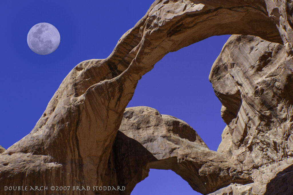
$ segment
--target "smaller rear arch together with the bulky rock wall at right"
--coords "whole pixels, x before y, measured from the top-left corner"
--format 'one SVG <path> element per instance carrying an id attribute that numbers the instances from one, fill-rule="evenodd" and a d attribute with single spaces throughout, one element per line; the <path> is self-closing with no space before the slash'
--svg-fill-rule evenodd
<path id="1" fill-rule="evenodd" d="M 275 176 L 293 164 L 293 71 L 285 56 L 283 45 L 258 37 L 228 39 L 209 76 L 227 124 L 217 152 L 179 119 L 126 108 L 113 146 L 118 181 L 130 192 L 150 168 L 171 169 L 202 194 L 228 183 L 234 184 L 212 194 L 271 193 Z M 289 177 L 282 176 L 281 186 L 291 185 Z"/>

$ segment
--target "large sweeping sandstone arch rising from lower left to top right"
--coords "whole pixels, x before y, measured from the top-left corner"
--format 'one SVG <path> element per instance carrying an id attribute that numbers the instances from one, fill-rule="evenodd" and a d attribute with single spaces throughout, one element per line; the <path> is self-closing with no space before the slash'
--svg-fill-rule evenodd
<path id="1" fill-rule="evenodd" d="M 108 160 L 142 75 L 168 52 L 213 35 L 251 34 L 281 43 L 274 22 L 283 12 L 273 8 L 278 10 L 264 1 L 155 1 L 108 58 L 71 70 L 32 132 L 1 154 L 2 185 L 117 183 L 107 176 Z"/>

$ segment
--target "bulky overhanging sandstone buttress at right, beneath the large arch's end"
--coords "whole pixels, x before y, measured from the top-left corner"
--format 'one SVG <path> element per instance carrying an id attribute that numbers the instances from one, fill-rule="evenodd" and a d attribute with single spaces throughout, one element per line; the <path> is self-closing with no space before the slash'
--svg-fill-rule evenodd
<path id="1" fill-rule="evenodd" d="M 292 163 L 292 64 L 281 44 L 233 35 L 209 75 L 227 123 L 218 152 L 250 173 L 252 194 Z"/>

